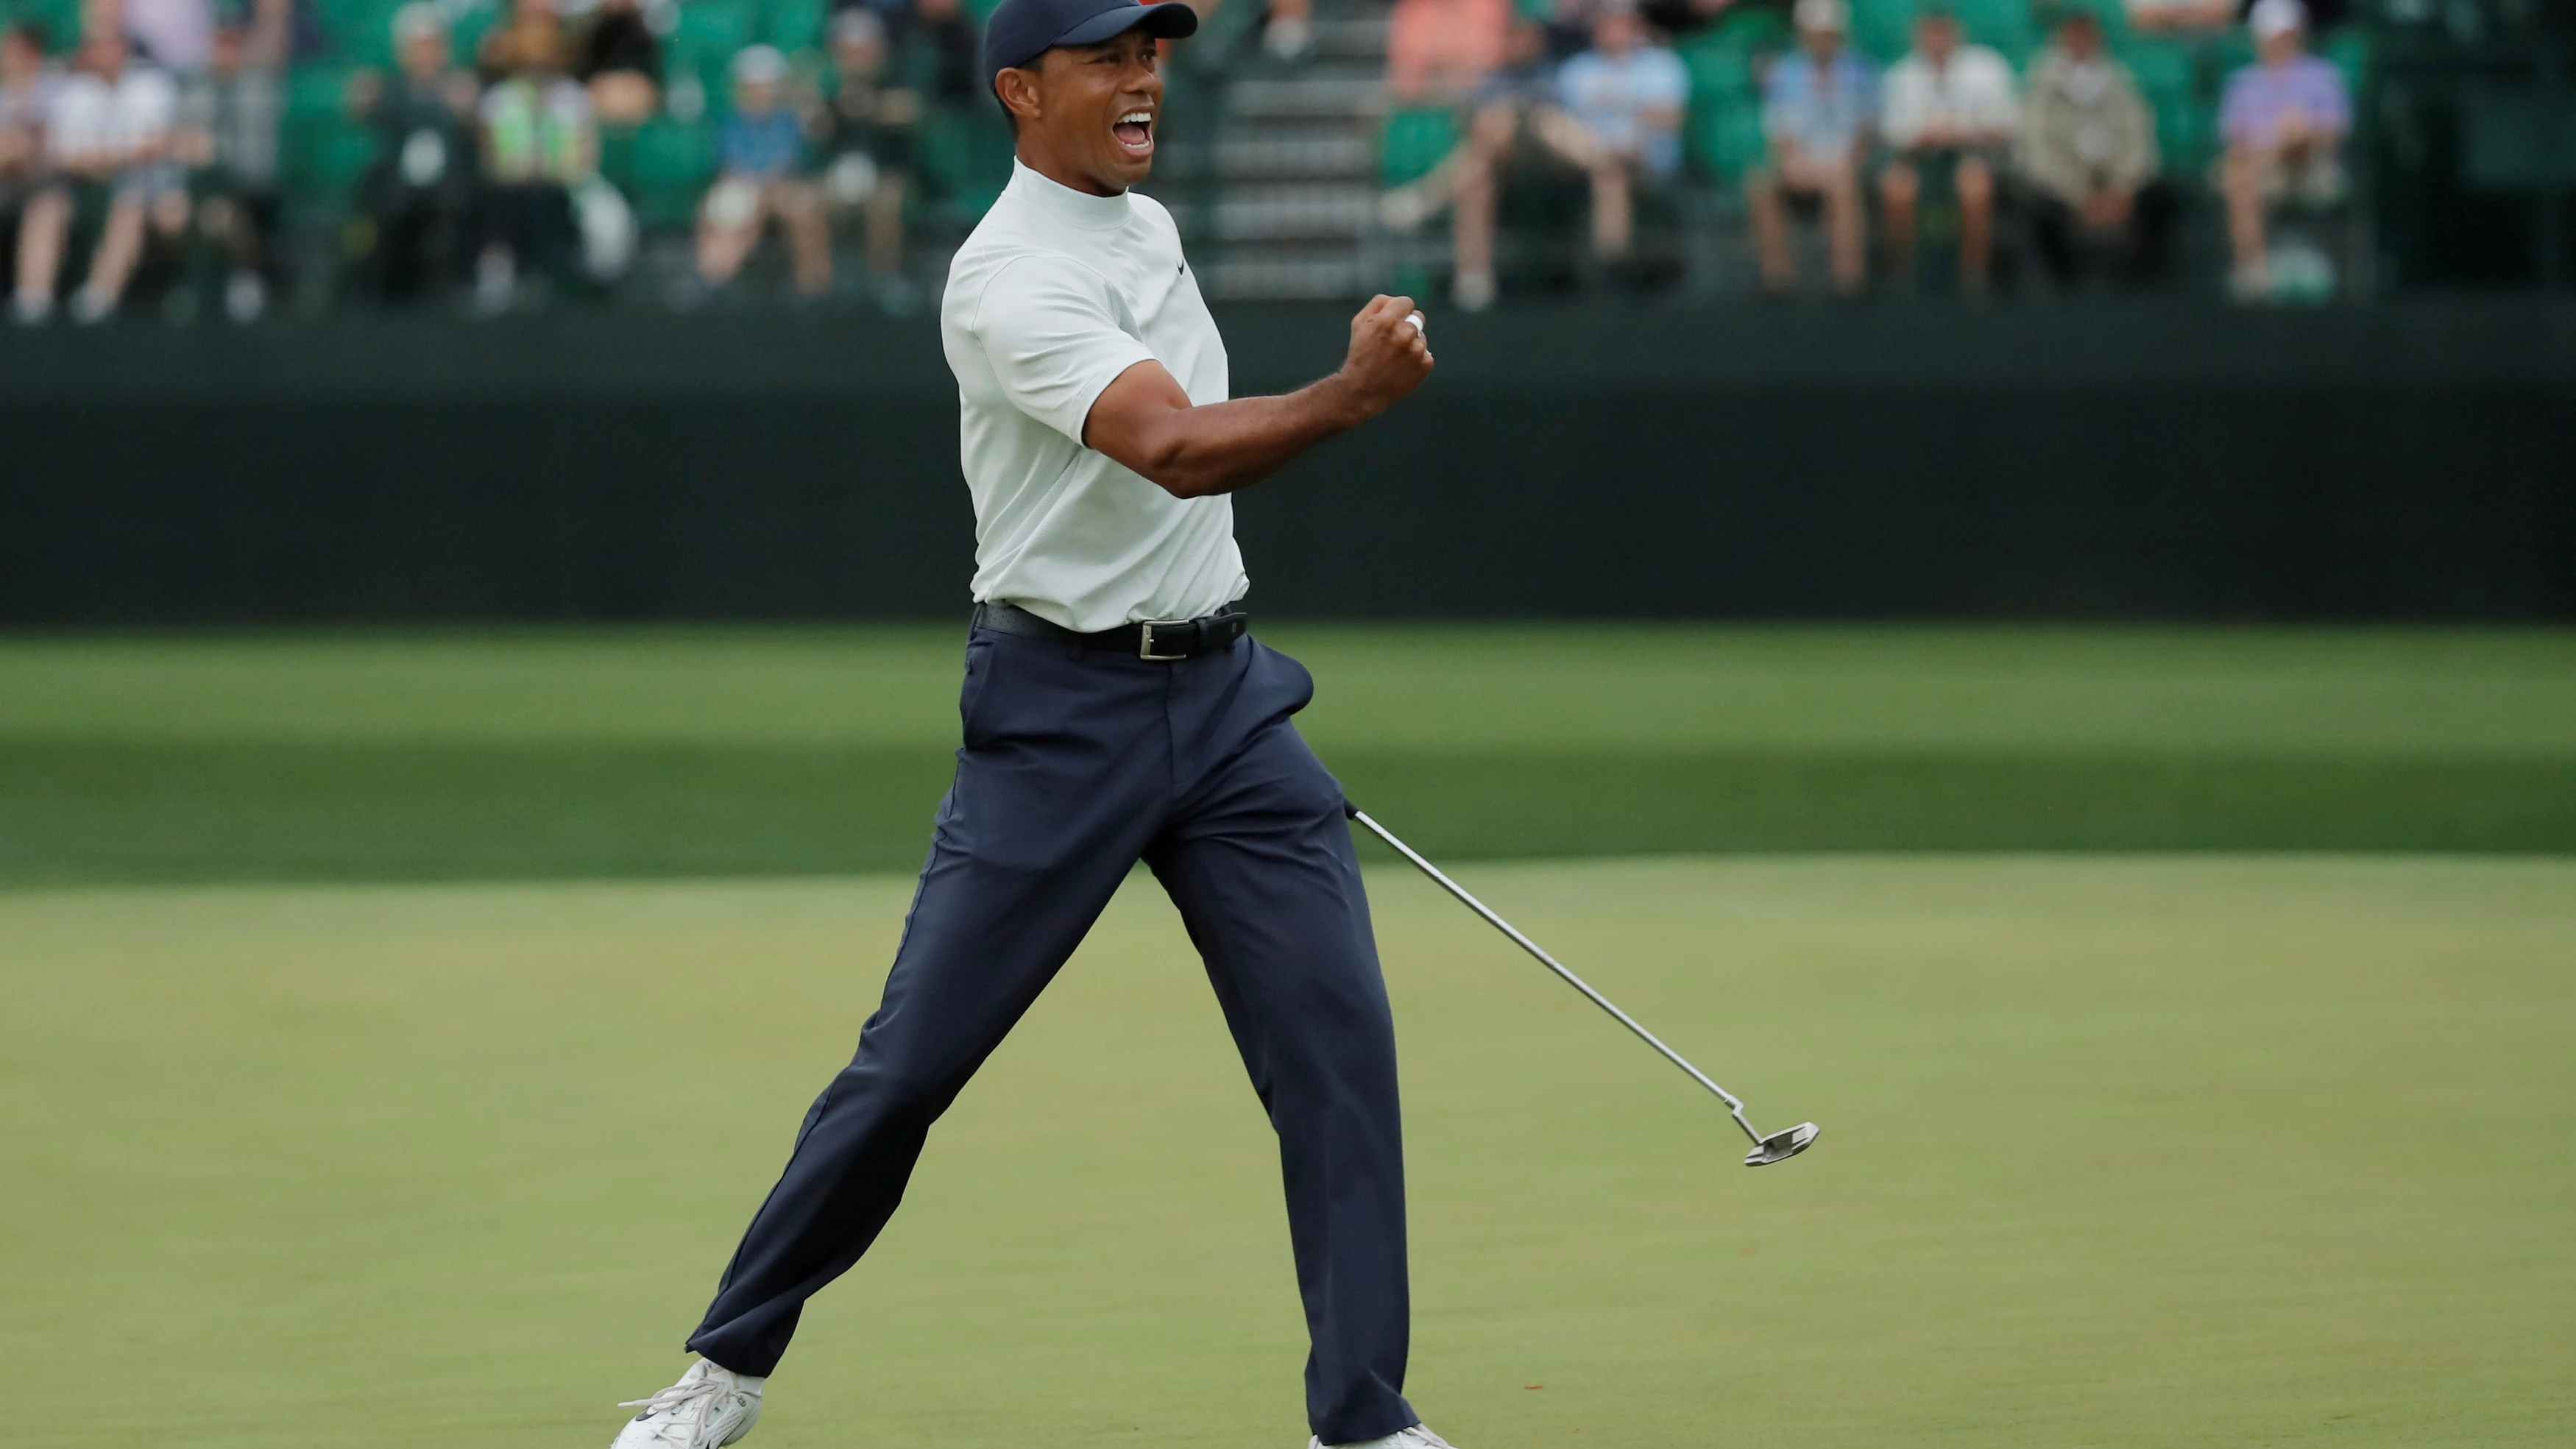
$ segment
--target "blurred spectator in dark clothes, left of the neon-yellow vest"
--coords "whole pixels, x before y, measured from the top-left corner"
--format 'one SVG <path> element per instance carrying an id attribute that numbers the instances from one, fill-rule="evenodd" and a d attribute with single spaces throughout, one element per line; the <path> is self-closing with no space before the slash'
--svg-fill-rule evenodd
<path id="1" fill-rule="evenodd" d="M 376 134 L 358 183 L 381 301 L 417 301 L 456 281 L 474 232 L 474 77 L 456 69 L 446 10 L 412 0 L 394 13 L 394 80 L 363 77 L 353 108 Z"/>

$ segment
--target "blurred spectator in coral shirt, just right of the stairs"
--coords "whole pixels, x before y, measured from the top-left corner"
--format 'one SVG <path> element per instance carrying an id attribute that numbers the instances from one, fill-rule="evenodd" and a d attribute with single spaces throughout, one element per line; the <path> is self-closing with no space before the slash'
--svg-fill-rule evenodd
<path id="1" fill-rule="evenodd" d="M 1450 226 L 1450 301 L 1466 311 L 1494 306 L 1494 208 L 1502 165 L 1522 121 L 1533 129 L 1556 106 L 1558 46 L 1571 26 L 1515 23 L 1507 5 L 1484 0 L 1396 0 L 1386 41 L 1386 88 L 1404 106 L 1463 106 L 1463 136 L 1419 180 L 1378 198 L 1378 216 L 1396 232 L 1422 226 L 1455 203 Z M 1401 41 L 1401 44 L 1399 44 Z"/>

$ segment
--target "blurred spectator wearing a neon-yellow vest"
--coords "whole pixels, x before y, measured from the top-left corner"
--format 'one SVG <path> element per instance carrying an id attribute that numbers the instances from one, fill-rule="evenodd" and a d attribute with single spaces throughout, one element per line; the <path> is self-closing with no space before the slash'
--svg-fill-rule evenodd
<path id="1" fill-rule="evenodd" d="M 526 275 L 564 281 L 574 260 L 572 185 L 598 167 L 598 134 L 590 93 L 564 75 L 569 54 L 554 0 L 515 0 L 510 23 L 482 44 L 482 64 L 500 75 L 482 98 L 474 309 L 487 317 L 523 299 Z"/>

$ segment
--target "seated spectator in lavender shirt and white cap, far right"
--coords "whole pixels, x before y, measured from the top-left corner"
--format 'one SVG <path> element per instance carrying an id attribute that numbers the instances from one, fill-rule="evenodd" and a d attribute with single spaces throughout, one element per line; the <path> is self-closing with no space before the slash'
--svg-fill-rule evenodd
<path id="1" fill-rule="evenodd" d="M 2257 0 L 2249 21 L 2254 64 L 2228 77 L 2218 103 L 2221 190 L 2228 201 L 2233 291 L 2272 291 L 2264 208 L 2277 201 L 2331 206 L 2344 198 L 2342 149 L 2352 131 L 2352 98 L 2334 62 L 2308 54 L 2308 10 L 2300 0 Z"/>

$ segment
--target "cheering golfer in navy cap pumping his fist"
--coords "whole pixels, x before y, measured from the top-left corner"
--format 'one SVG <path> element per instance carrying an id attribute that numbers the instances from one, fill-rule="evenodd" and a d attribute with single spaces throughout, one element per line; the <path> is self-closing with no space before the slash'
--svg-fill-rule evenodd
<path id="1" fill-rule="evenodd" d="M 1386 412 L 1432 358 L 1412 299 L 1342 368 L 1226 401 L 1226 350 L 1154 167 L 1157 41 L 1188 5 L 1005 0 L 984 75 L 1010 188 L 958 250 L 940 337 L 976 510 L 966 746 L 886 999 L 806 1112 L 688 1374 L 618 1449 L 760 1418 L 804 1300 L 868 1251 L 930 1122 L 1144 860 L 1180 906 L 1280 1138 L 1316 1444 L 1443 1449 L 1404 1403 L 1404 1148 L 1386 983 L 1342 790 L 1288 715 L 1306 669 L 1247 636 L 1229 492 Z"/>

